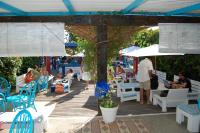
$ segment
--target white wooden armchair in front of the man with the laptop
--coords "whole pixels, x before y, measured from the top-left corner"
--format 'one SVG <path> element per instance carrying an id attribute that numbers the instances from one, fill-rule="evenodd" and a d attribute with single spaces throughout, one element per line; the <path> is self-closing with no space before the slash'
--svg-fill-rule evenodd
<path id="1" fill-rule="evenodd" d="M 167 112 L 167 107 L 176 107 L 181 103 L 188 103 L 188 89 L 169 89 L 166 97 L 161 97 L 159 94 L 153 95 L 153 105 L 159 105 L 162 112 Z"/>

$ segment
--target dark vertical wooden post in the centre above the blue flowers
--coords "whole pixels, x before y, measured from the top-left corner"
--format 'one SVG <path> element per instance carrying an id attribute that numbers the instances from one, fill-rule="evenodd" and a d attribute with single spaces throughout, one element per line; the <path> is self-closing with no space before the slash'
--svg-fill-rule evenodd
<path id="1" fill-rule="evenodd" d="M 97 81 L 107 82 L 107 25 L 97 26 Z"/>

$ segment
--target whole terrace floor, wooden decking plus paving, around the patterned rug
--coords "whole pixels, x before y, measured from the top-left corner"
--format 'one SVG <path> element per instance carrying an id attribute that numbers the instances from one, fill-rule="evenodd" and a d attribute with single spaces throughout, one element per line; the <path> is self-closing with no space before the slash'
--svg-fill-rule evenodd
<path id="1" fill-rule="evenodd" d="M 49 116 L 47 133 L 76 133 L 82 128 L 85 129 L 87 123 L 96 118 L 102 119 L 97 116 L 98 108 L 94 97 L 94 84 L 90 84 L 88 90 L 84 90 L 84 87 L 85 82 L 74 80 L 70 93 L 44 92 L 37 96 L 36 101 L 45 101 L 48 102 L 48 105 L 56 103 L 53 112 Z M 137 116 L 148 123 L 146 127 L 150 133 L 187 133 L 186 124 L 180 126 L 175 121 L 175 108 L 169 109 L 167 114 L 162 113 L 160 107 L 147 104 L 140 105 L 136 101 L 120 104 L 118 118 L 134 118 Z M 84 132 L 84 130 L 82 131 Z"/>

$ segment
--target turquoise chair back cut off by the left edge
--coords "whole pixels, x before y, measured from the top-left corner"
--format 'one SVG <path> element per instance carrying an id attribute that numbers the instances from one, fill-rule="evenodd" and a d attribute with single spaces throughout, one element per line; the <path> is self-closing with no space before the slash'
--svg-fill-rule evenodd
<path id="1" fill-rule="evenodd" d="M 0 77 L 0 93 L 3 93 L 5 97 L 10 96 L 10 83 L 3 77 Z"/>

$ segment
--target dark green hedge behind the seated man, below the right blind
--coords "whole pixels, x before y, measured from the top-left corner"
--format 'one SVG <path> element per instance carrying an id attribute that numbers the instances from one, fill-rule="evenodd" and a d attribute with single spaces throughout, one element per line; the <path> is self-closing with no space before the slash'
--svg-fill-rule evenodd
<path id="1" fill-rule="evenodd" d="M 174 74 L 184 71 L 190 79 L 199 81 L 200 55 L 165 56 L 158 57 L 158 70 L 167 72 L 168 80 L 173 80 Z"/>

